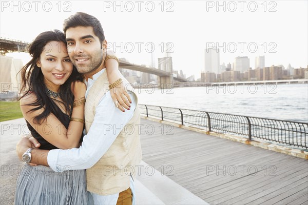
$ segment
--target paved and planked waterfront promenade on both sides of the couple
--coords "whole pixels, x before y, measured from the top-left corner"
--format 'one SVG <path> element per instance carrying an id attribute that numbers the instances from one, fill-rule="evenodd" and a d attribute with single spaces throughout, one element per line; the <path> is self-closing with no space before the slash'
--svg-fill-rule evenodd
<path id="1" fill-rule="evenodd" d="M 4 124 L 15 125 L 1 135 L 1 204 L 13 203 L 22 165 L 15 128 L 23 123 L 1 122 L 2 132 Z M 141 124 L 146 169 L 136 183 L 138 204 L 308 204 L 306 159 L 146 119 Z M 12 165 L 15 171 L 4 170 Z"/>

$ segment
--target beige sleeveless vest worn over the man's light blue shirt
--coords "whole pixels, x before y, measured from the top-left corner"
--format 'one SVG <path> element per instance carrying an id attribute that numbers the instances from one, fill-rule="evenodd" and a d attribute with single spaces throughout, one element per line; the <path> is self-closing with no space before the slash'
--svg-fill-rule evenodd
<path id="1" fill-rule="evenodd" d="M 128 84 L 123 76 L 122 79 L 124 85 Z M 85 104 L 86 133 L 92 125 L 95 108 L 103 95 L 109 90 L 108 85 L 107 72 L 104 71 L 88 91 Z M 138 171 L 136 165 L 142 159 L 138 101 L 132 118 L 123 126 L 122 131 L 102 158 L 93 167 L 87 169 L 88 191 L 99 195 L 120 193 L 129 188 L 130 175 L 133 178 L 136 176 Z M 117 125 L 117 128 L 119 127 L 120 125 Z M 102 135 L 103 133 L 98 134 Z"/>

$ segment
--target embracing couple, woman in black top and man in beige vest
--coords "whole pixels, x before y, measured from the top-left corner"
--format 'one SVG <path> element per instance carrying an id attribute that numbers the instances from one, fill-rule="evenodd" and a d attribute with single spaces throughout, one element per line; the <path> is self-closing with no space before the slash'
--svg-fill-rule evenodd
<path id="1" fill-rule="evenodd" d="M 134 204 L 142 159 L 137 95 L 99 20 L 76 13 L 30 44 L 21 110 L 31 135 L 15 204 Z"/>

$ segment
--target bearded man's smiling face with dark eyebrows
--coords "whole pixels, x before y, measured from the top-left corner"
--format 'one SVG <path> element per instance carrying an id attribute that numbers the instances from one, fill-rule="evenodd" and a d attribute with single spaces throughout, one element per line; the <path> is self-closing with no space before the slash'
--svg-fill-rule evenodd
<path id="1" fill-rule="evenodd" d="M 80 73 L 90 73 L 102 65 L 103 51 L 106 46 L 93 32 L 93 28 L 78 26 L 66 30 L 67 51 Z"/>

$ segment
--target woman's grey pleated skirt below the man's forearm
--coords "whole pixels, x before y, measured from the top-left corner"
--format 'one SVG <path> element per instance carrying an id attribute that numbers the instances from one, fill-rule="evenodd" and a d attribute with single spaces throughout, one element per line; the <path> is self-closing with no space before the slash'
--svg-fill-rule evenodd
<path id="1" fill-rule="evenodd" d="M 45 166 L 23 166 L 17 178 L 15 204 L 88 204 L 86 171 L 54 172 Z"/>

